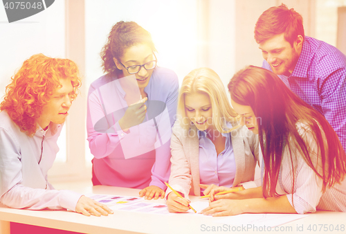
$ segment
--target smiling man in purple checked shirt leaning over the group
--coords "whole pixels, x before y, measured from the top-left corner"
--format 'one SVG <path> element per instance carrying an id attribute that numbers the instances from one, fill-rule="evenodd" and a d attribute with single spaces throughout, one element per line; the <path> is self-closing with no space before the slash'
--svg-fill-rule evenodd
<path id="1" fill-rule="evenodd" d="M 346 56 L 304 36 L 302 16 L 284 4 L 262 13 L 255 40 L 264 57 L 262 67 L 325 116 L 346 151 Z"/>

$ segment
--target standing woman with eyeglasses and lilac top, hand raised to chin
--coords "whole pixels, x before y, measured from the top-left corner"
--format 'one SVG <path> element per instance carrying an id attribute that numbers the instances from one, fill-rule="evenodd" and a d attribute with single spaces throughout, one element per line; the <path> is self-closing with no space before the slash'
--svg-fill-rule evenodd
<path id="1" fill-rule="evenodd" d="M 104 73 L 89 89 L 86 118 L 93 185 L 140 188 L 165 197 L 170 136 L 179 83 L 156 66 L 151 35 L 135 22 L 111 28 L 101 52 Z"/>

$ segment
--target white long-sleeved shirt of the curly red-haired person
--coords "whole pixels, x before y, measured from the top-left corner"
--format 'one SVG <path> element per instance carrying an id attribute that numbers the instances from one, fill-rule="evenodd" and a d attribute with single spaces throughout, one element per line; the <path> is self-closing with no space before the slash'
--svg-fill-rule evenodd
<path id="1" fill-rule="evenodd" d="M 62 125 L 51 123 L 34 136 L 21 132 L 8 116 L 0 112 L 0 201 L 12 208 L 67 208 L 75 211 L 82 195 L 69 190 L 54 190 L 47 181 L 59 151 L 57 137 Z"/>

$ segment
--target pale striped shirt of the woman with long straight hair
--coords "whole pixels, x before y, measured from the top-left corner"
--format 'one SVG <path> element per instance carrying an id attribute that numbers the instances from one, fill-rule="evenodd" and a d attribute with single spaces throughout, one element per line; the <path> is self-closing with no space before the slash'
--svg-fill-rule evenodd
<path id="1" fill-rule="evenodd" d="M 316 141 L 313 135 L 303 124 L 298 124 L 298 132 L 302 136 L 311 151 L 311 161 L 318 165 L 320 155 L 317 154 Z M 332 188 L 327 188 L 322 192 L 322 179 L 307 165 L 303 157 L 298 154 L 297 150 L 291 149 L 293 165 L 295 168 L 295 186 L 293 189 L 292 201 L 292 167 L 291 157 L 289 156 L 289 147 L 285 147 L 281 163 L 281 179 L 277 182 L 276 192 L 280 195 L 286 195 L 290 204 L 295 208 L 297 213 L 311 213 L 316 210 L 331 210 L 346 212 L 346 181 L 340 184 L 335 183 Z M 318 156 L 317 156 L 318 155 Z M 320 162 L 319 162 L 320 164 Z M 318 171 L 321 171 L 320 165 Z M 281 186 L 280 186 L 281 184 Z"/>

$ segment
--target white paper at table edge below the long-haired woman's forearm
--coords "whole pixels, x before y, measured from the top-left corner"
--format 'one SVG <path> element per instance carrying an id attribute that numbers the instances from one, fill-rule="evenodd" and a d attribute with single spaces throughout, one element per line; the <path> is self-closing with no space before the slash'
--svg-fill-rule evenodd
<path id="1" fill-rule="evenodd" d="M 309 215 L 297 214 L 242 214 L 229 216 L 224 219 L 215 220 L 221 224 L 229 224 L 230 226 L 242 226 L 253 224 L 255 226 L 280 226 L 296 219 L 301 219 Z"/>

